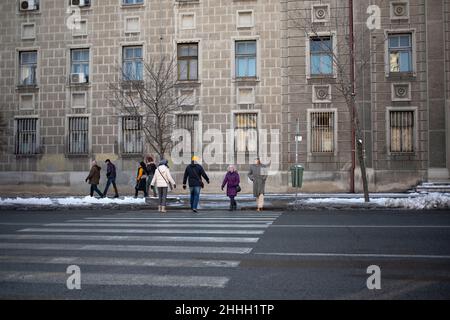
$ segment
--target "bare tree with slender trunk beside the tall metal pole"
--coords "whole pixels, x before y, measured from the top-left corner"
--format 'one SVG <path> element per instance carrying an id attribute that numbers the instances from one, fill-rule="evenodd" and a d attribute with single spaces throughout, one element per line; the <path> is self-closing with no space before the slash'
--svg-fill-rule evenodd
<path id="1" fill-rule="evenodd" d="M 347 1 L 335 1 L 335 6 L 331 6 L 331 14 L 329 14 L 328 21 L 324 23 L 314 21 L 314 10 L 311 9 L 309 2 L 306 3 L 306 5 L 302 5 L 299 2 L 300 7 L 292 11 L 289 16 L 289 21 L 292 23 L 293 29 L 303 33 L 308 41 L 313 38 L 315 44 L 320 48 L 321 53 L 331 60 L 332 65 L 328 66 L 328 68 L 333 70 L 333 77 L 329 79 L 329 84 L 343 98 L 351 116 L 350 125 L 352 130 L 354 130 L 354 137 L 352 139 L 355 139 L 352 141 L 352 149 L 355 149 L 354 145 L 356 144 L 356 154 L 361 170 L 364 199 L 366 202 L 369 202 L 364 137 L 356 108 L 357 92 L 360 88 L 359 85 L 364 79 L 361 79 L 358 84 L 355 81 L 354 75 L 355 68 L 356 74 L 364 74 L 364 70 L 371 62 L 372 54 L 370 47 L 365 47 L 364 45 L 355 46 L 356 43 L 362 43 L 365 40 L 370 41 L 371 30 L 364 24 L 358 30 L 358 36 L 355 38 L 353 12 L 350 9 L 352 4 L 349 4 Z M 352 167 L 353 170 L 354 168 Z"/>

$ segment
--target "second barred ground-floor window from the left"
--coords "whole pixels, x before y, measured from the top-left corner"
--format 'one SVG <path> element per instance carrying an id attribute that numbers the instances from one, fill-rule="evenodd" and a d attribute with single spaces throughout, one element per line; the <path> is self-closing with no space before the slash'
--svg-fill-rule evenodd
<path id="1" fill-rule="evenodd" d="M 88 154 L 89 118 L 69 118 L 69 154 Z"/>

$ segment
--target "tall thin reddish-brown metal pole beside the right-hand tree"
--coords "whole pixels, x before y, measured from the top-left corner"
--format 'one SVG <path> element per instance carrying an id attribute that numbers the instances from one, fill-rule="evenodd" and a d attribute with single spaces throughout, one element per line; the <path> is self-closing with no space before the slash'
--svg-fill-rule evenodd
<path id="1" fill-rule="evenodd" d="M 352 130 L 352 169 L 350 173 L 350 192 L 355 193 L 355 169 L 356 169 L 356 132 L 355 132 L 355 35 L 353 30 L 353 0 L 349 0 L 349 41 L 350 41 L 350 81 L 351 93 L 351 130 Z"/>

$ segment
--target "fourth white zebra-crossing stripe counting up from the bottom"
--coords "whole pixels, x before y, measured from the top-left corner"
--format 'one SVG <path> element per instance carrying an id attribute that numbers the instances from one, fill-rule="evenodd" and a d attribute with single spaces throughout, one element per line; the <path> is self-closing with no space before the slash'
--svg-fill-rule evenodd
<path id="1" fill-rule="evenodd" d="M 243 237 L 171 237 L 171 236 L 97 236 L 97 235 L 32 235 L 0 234 L 4 240 L 80 240 L 80 241 L 180 241 L 180 242 L 234 242 L 256 243 L 259 238 Z"/>

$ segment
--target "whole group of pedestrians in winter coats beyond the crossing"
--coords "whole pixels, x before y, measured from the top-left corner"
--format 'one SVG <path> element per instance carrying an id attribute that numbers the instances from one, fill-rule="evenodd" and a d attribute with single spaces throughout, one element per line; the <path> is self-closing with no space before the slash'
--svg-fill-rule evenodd
<path id="1" fill-rule="evenodd" d="M 208 184 L 210 183 L 210 180 L 203 167 L 198 163 L 199 158 L 197 156 L 193 156 L 191 160 L 191 164 L 189 164 L 184 171 L 183 189 L 186 190 L 187 185 L 189 185 L 190 207 L 191 210 L 196 213 L 200 202 L 201 190 L 205 187 L 203 179 Z M 95 160 L 92 161 L 91 170 L 86 178 L 86 182 L 89 182 L 91 185 L 90 195 L 92 197 L 94 192 L 96 192 L 101 198 L 104 198 L 106 197 L 109 187 L 112 185 L 115 192 L 114 197 L 118 198 L 119 193 L 116 186 L 116 166 L 109 159 L 107 159 L 105 163 L 107 164 L 107 183 L 105 190 L 101 192 L 98 189 L 101 167 L 98 166 Z M 253 195 L 256 198 L 257 211 L 262 211 L 264 208 L 264 193 L 267 176 L 266 166 L 261 163 L 259 158 L 255 159 L 255 163 L 250 166 L 248 178 L 253 182 Z M 236 196 L 241 191 L 240 182 L 240 175 L 236 170 L 236 167 L 234 165 L 230 165 L 227 173 L 225 174 L 221 187 L 222 190 L 224 190 L 225 186 L 227 188 L 226 194 L 227 197 L 230 198 L 230 211 L 237 209 Z M 153 157 L 149 156 L 145 159 L 145 162 L 140 162 L 136 174 L 136 198 L 139 195 L 139 191 L 144 193 L 144 197 L 148 197 L 148 194 L 151 191 L 153 197 L 159 198 L 158 211 L 165 213 L 168 192 L 175 188 L 176 183 L 170 173 L 167 160 L 162 159 L 159 164 L 156 165 Z"/>

